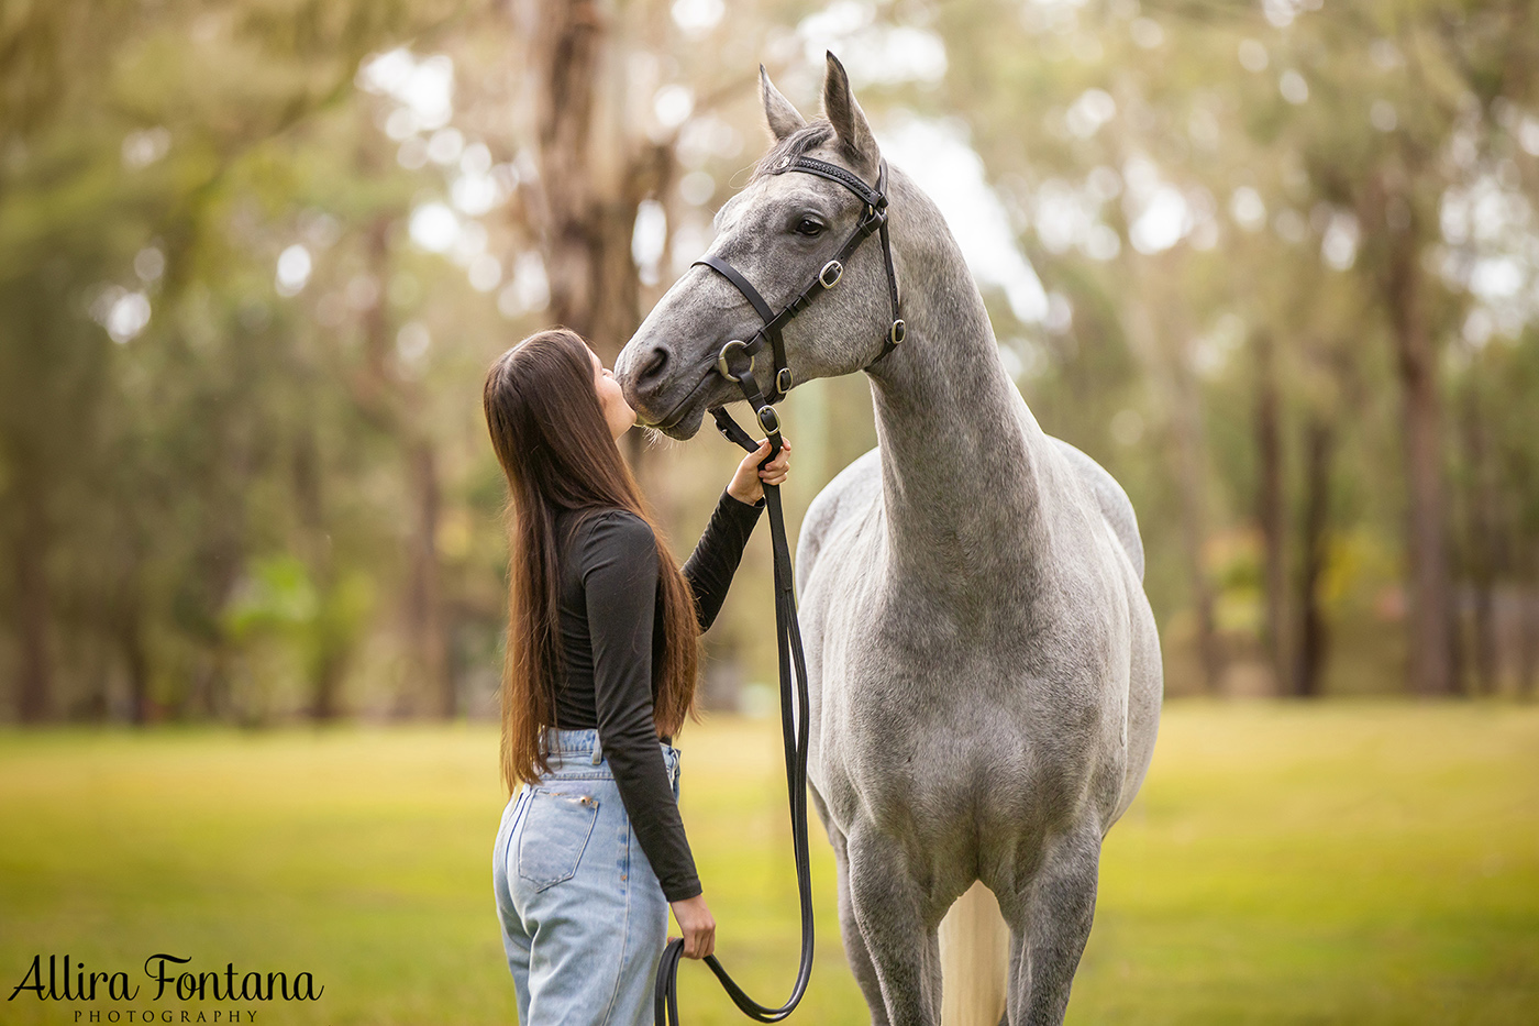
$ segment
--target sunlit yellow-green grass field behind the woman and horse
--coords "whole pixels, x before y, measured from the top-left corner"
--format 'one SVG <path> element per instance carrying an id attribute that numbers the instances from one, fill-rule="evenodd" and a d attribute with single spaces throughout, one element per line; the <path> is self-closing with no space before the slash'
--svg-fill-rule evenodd
<path id="1" fill-rule="evenodd" d="M 719 718 L 679 744 L 717 954 L 779 1003 L 796 889 L 777 727 Z M 0 1023 L 512 1023 L 496 752 L 485 726 L 0 733 L 0 998 L 34 955 L 46 983 L 49 954 L 140 986 L 20 992 Z M 793 1021 L 865 1023 L 816 823 L 813 843 L 819 957 Z M 160 952 L 194 972 L 311 972 L 325 992 L 155 1001 L 143 963 Z M 748 1021 L 703 966 L 682 977 L 689 1026 Z M 1168 706 L 1107 840 L 1068 1018 L 1539 1023 L 1539 709 Z"/>

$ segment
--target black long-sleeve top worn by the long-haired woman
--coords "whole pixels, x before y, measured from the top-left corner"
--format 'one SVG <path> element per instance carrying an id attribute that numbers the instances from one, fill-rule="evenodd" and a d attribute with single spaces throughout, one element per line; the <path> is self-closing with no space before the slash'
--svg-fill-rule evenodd
<path id="1" fill-rule="evenodd" d="M 762 508 L 763 499 L 748 505 L 723 488 L 683 565 L 702 632 L 716 621 L 726 599 Z M 663 897 L 668 901 L 693 898 L 700 894 L 700 880 L 653 721 L 653 664 L 663 641 L 662 582 L 653 531 L 628 510 L 602 510 L 586 518 L 577 510 L 562 510 L 556 533 L 566 658 L 565 673 L 556 681 L 556 726 L 597 729 L 620 800 Z"/>

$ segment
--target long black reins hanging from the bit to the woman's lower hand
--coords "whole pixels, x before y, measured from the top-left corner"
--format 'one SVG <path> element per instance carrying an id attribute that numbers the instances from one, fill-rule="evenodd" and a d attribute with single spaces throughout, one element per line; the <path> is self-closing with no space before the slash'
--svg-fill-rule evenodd
<path id="1" fill-rule="evenodd" d="M 765 402 L 759 382 L 753 371 L 745 371 L 739 377 L 739 387 L 754 407 L 759 422 L 766 428 L 770 438 L 770 456 L 759 464 L 763 468 L 771 459 L 780 454 L 780 427 L 774 417 L 774 407 Z M 766 416 L 768 411 L 768 416 Z M 754 439 L 733 421 L 726 410 L 711 411 L 716 427 L 749 453 L 759 448 Z M 773 425 L 773 428 L 771 428 Z M 743 992 L 737 983 L 726 975 L 726 969 L 706 955 L 705 964 L 722 981 L 722 989 L 733 998 L 733 1003 L 760 1023 L 779 1023 L 788 1017 L 802 1001 L 806 992 L 806 981 L 813 975 L 813 880 L 811 864 L 806 850 L 806 738 L 808 738 L 808 696 L 806 696 L 806 658 L 802 653 L 802 629 L 796 618 L 796 585 L 791 575 L 791 548 L 785 541 L 785 513 L 780 508 L 780 487 L 766 484 L 765 505 L 770 508 L 770 539 L 774 547 L 774 622 L 776 642 L 780 650 L 780 733 L 785 741 L 785 780 L 791 801 L 791 847 L 796 852 L 796 889 L 802 901 L 802 963 L 796 974 L 796 986 L 791 997 L 779 1008 L 759 1004 Z M 793 684 L 791 669 L 796 669 Z M 657 986 L 653 991 L 653 1023 L 654 1026 L 679 1026 L 679 958 L 683 955 L 683 940 L 674 940 L 663 949 L 662 963 L 657 966 Z"/>

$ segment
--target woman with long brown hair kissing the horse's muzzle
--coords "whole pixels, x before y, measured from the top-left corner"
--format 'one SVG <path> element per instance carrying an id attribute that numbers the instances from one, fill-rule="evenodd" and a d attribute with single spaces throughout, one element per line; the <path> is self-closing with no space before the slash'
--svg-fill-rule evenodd
<path id="1" fill-rule="evenodd" d="M 739 464 L 680 572 L 620 459 L 636 413 L 580 336 L 551 328 L 503 353 L 483 407 L 516 515 L 502 770 L 525 787 L 492 881 L 519 1021 L 645 1023 L 669 904 L 685 955 L 716 946 L 671 741 L 699 719 L 700 632 L 791 445 Z"/>

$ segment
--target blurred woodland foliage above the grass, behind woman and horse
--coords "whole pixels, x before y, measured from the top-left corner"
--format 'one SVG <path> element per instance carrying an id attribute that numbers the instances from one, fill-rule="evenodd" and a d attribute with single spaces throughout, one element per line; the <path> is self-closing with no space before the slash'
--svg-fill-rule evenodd
<path id="1" fill-rule="evenodd" d="M 1454 690 L 1534 692 L 1539 5 L 591 6 L 594 176 L 660 168 L 617 208 L 616 324 L 759 156 L 759 62 L 813 112 L 833 48 L 879 142 L 917 122 L 980 159 L 1043 297 L 974 260 L 1002 359 L 1131 495 L 1171 693 L 1313 693 L 1311 659 L 1314 692 L 1436 684 L 1427 622 Z M 562 293 L 540 11 L 8 5 L 3 715 L 491 713 L 480 381 Z M 859 377 L 785 421 L 794 530 L 876 436 Z M 680 559 L 736 464 L 705 434 L 633 450 Z M 711 702 L 773 679 L 768 587 L 756 539 Z"/>

